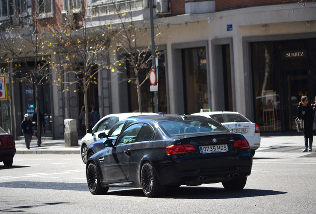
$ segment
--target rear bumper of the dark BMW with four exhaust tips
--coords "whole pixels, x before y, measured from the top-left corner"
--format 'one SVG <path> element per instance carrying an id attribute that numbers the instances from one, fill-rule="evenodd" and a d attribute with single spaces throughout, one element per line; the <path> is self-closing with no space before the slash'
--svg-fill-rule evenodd
<path id="1" fill-rule="evenodd" d="M 201 185 L 245 178 L 251 174 L 251 167 L 251 156 L 228 156 L 165 163 L 157 174 L 162 185 Z"/>

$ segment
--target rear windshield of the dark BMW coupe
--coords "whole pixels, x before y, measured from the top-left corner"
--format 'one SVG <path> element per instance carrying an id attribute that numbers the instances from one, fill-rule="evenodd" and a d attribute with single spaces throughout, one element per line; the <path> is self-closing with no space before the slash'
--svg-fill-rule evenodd
<path id="1" fill-rule="evenodd" d="M 183 121 L 163 121 L 159 123 L 160 127 L 169 136 L 228 132 L 224 126 L 213 120 L 183 120 Z"/>

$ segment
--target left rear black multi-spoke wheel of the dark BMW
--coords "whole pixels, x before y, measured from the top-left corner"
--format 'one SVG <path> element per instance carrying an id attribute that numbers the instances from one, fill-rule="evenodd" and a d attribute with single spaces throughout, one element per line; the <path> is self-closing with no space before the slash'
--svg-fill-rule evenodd
<path id="1" fill-rule="evenodd" d="M 164 192 L 165 187 L 161 186 L 156 172 L 149 162 L 141 169 L 141 185 L 145 196 L 156 197 Z"/>

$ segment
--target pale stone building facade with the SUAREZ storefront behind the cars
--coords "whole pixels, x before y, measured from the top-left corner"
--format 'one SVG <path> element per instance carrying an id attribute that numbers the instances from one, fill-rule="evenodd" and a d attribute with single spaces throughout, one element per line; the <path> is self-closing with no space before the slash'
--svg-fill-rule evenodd
<path id="1" fill-rule="evenodd" d="M 1 8 L 8 1 L 1 1 Z M 51 0 L 51 6 L 44 10 L 62 20 L 65 2 Z M 134 20 L 149 20 L 147 0 L 117 1 L 122 2 L 134 5 Z M 91 16 L 111 14 L 110 3 L 104 1 L 86 1 L 84 6 L 81 1 L 72 3 L 76 11 L 86 8 Z M 307 95 L 310 102 L 316 96 L 315 0 L 154 0 L 154 5 L 154 24 L 161 26 L 163 35 L 158 44 L 163 51 L 158 60 L 158 111 L 238 111 L 257 123 L 261 131 L 295 129 L 301 96 Z M 10 20 L 8 12 L 1 10 L 1 23 Z M 146 42 L 150 43 L 150 38 Z M 115 59 L 109 55 L 109 60 Z M 138 109 L 135 87 L 116 72 L 100 68 L 97 79 L 89 102 L 97 104 L 101 116 Z M 11 119 L 12 128 L 18 130 L 32 103 L 32 91 L 27 85 L 7 82 L 11 101 L 1 101 L 2 125 Z M 154 110 L 149 86 L 148 81 L 142 89 L 144 111 Z M 63 138 L 63 120 L 79 118 L 81 95 L 62 93 L 63 88 L 53 84 L 44 87 L 49 89 L 41 95 L 51 124 L 48 134 Z M 30 105 L 23 106 L 25 101 Z"/>

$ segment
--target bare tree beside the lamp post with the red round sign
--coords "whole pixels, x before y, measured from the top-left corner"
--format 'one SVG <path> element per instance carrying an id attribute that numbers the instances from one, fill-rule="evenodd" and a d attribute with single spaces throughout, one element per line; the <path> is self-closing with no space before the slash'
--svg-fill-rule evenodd
<path id="1" fill-rule="evenodd" d="M 149 78 L 149 72 L 153 68 L 151 53 L 151 32 L 150 20 L 134 20 L 133 8 L 130 7 L 121 11 L 119 3 L 114 3 L 116 13 L 113 14 L 113 22 L 109 29 L 112 30 L 113 40 L 116 43 L 116 61 L 112 63 L 112 67 L 118 72 L 125 70 L 131 71 L 133 75 L 127 76 L 124 80 L 135 84 L 137 91 L 137 100 L 139 112 L 144 111 L 142 108 L 141 87 Z M 158 57 L 163 54 L 158 51 L 158 45 L 162 37 L 160 26 L 155 26 L 155 55 Z"/>

